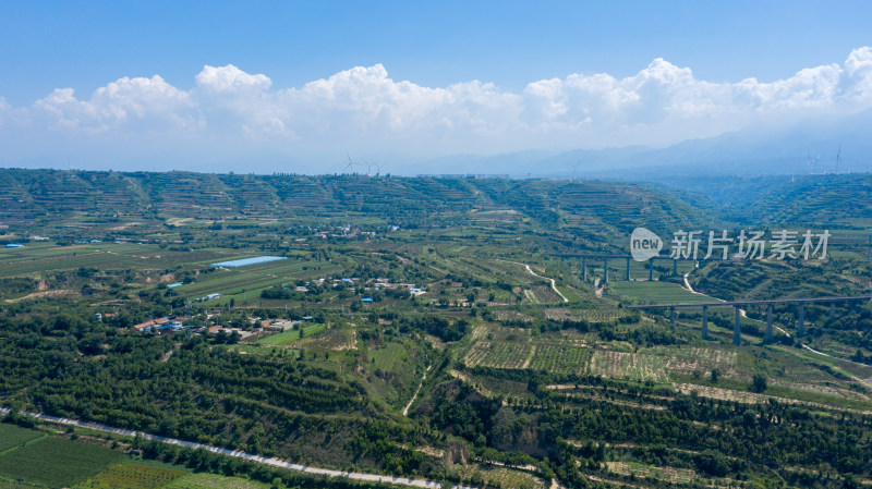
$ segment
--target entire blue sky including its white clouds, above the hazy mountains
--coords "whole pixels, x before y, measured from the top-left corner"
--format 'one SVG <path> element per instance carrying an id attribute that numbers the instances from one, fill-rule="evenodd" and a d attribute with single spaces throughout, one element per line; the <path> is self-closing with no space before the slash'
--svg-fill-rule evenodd
<path id="1" fill-rule="evenodd" d="M 289 159 L 671 144 L 865 108 L 871 11 L 797 1 L 3 2 L 0 143 L 11 150 L 0 164 L 73 155 L 105 166 L 98 155 L 117 160 L 119 140 L 180 161 L 217 158 L 226 151 L 215 142 L 228 139 L 239 155 Z M 821 66 L 829 69 L 797 77 Z M 124 80 L 133 82 L 112 85 Z"/>

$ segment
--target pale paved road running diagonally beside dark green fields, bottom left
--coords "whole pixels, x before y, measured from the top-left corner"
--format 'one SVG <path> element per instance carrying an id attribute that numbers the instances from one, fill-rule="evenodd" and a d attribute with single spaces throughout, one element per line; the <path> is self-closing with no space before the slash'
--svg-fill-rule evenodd
<path id="1" fill-rule="evenodd" d="M 0 407 L 0 414 L 9 413 L 9 408 Z M 100 425 L 97 423 L 88 423 L 88 421 L 80 421 L 76 419 L 68 419 L 68 418 L 59 418 L 55 416 L 49 416 L 46 414 L 36 414 L 36 413 L 27 413 L 21 412 L 21 414 L 31 416 L 37 419 L 41 419 L 44 421 L 57 423 L 60 425 L 69 425 L 69 426 L 77 426 L 81 428 L 88 428 L 97 431 L 104 431 L 109 433 L 116 435 L 123 435 L 125 437 L 135 437 L 140 436 L 145 440 L 156 440 L 164 443 L 175 444 L 179 447 L 186 447 L 190 449 L 204 449 L 208 450 L 213 453 L 219 453 L 221 455 L 227 456 L 234 456 L 237 459 L 243 459 L 252 462 L 257 462 L 265 465 L 271 465 L 274 467 L 280 468 L 288 468 L 291 470 L 302 472 L 306 474 L 314 474 L 314 475 L 322 475 L 328 477 L 348 477 L 349 479 L 354 480 L 365 480 L 367 482 L 379 482 L 379 484 L 393 484 L 399 486 L 412 486 L 412 487 L 421 487 L 421 488 L 433 488 L 438 489 L 441 488 L 441 482 L 436 480 L 427 480 L 427 479 L 414 479 L 409 477 L 397 477 L 390 475 L 378 475 L 378 474 L 363 474 L 359 472 L 341 472 L 341 470 L 331 470 L 329 468 L 320 468 L 320 467 L 312 467 L 307 465 L 299 465 L 293 464 L 291 462 L 286 462 L 276 457 L 266 457 L 262 455 L 254 455 L 251 453 L 246 453 L 240 450 L 227 450 L 218 447 L 213 447 L 203 443 L 194 443 L 191 441 L 179 440 L 175 438 L 167 438 L 167 437 L 159 437 L 157 435 L 149 435 L 144 433 L 142 431 L 133 431 L 123 428 L 116 428 L 113 426 Z M 453 489 L 477 489 L 469 486 L 453 486 Z"/>

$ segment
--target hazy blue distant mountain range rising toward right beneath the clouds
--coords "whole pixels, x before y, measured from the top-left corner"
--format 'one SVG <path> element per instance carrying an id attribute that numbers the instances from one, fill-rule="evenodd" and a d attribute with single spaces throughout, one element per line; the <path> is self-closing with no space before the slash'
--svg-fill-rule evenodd
<path id="1" fill-rule="evenodd" d="M 838 158 L 838 166 L 837 166 Z M 872 171 L 872 110 L 773 130 L 764 123 L 666 148 L 526 150 L 425 161 L 419 173 L 663 181 L 673 176 Z"/>

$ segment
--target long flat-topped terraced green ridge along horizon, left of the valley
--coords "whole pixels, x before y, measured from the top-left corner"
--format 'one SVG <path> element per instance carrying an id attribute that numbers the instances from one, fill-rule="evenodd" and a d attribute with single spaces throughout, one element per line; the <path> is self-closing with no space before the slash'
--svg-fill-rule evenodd
<path id="1" fill-rule="evenodd" d="M 604 182 L 0 170 L 0 223 L 31 228 L 306 216 L 408 225 L 510 211 L 547 229 L 588 230 L 605 240 L 639 219 L 655 229 L 703 222 L 700 212 L 659 192 Z"/>

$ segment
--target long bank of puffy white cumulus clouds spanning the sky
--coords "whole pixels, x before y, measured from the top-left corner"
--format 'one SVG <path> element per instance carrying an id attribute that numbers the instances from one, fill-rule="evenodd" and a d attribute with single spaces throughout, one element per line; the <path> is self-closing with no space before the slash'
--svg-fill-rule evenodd
<path id="1" fill-rule="evenodd" d="M 287 151 L 337 145 L 396 147 L 432 156 L 525 148 L 668 144 L 737 130 L 766 118 L 872 107 L 872 48 L 843 64 L 800 70 L 774 82 L 698 80 L 690 68 L 655 59 L 637 74 L 569 74 L 520 93 L 470 81 L 427 87 L 395 81 L 382 64 L 355 66 L 300 87 L 276 88 L 266 74 L 206 65 L 195 86 L 158 75 L 123 77 L 78 98 L 58 88 L 29 107 L 0 98 L 0 132 L 10 126 L 63 134 L 232 140 Z M 10 113 L 16 117 L 11 118 Z M 48 137 L 48 136 L 47 136 Z"/>

